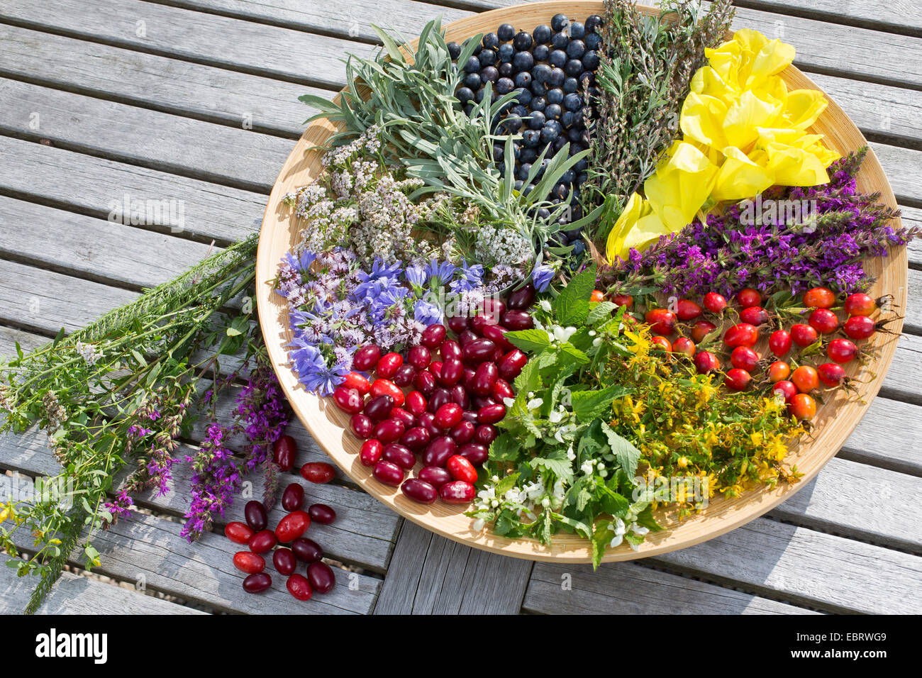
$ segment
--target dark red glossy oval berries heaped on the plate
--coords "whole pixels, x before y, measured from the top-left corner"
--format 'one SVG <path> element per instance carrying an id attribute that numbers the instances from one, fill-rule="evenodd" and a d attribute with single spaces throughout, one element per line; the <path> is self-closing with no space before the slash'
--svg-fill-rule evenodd
<path id="1" fill-rule="evenodd" d="M 355 371 L 333 400 L 351 415 L 351 431 L 364 441 L 361 463 L 379 482 L 422 504 L 474 498 L 477 467 L 496 438 L 493 424 L 505 416 L 503 399 L 514 398 L 512 381 L 527 362 L 505 332 L 533 327 L 526 309 L 534 301 L 530 285 L 506 302 L 485 299 L 473 317 L 426 327 L 406 356 L 382 355 L 373 345 L 355 352 Z M 361 374 L 372 372 L 373 381 Z M 417 477 L 407 479 L 420 462 Z"/>

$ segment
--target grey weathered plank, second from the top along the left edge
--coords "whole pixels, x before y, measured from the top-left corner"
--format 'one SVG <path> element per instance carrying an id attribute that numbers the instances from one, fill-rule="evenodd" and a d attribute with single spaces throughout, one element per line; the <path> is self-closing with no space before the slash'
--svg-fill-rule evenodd
<path id="1" fill-rule="evenodd" d="M 0 24 L 0 74 L 200 120 L 300 137 L 324 89 Z"/>

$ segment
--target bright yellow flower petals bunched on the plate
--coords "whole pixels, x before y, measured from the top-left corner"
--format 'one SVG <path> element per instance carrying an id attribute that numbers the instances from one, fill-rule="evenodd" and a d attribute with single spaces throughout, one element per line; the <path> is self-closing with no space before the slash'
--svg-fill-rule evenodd
<path id="1" fill-rule="evenodd" d="M 644 182 L 645 198 L 631 196 L 609 232 L 610 261 L 679 231 L 722 200 L 829 181 L 826 167 L 839 155 L 807 132 L 828 102 L 815 89 L 788 91 L 780 75 L 794 47 L 743 29 L 705 54 L 708 65 L 691 79 L 682 105 L 683 137 Z"/>

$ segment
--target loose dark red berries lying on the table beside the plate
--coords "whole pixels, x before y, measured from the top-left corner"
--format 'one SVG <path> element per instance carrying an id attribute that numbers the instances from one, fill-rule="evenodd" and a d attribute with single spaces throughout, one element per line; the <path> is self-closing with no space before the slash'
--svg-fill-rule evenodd
<path id="1" fill-rule="evenodd" d="M 290 435 L 278 439 L 274 459 L 281 470 L 289 471 L 297 453 L 297 444 Z M 301 475 L 310 482 L 330 482 L 336 471 L 330 464 L 311 462 L 301 467 Z M 329 593 L 336 584 L 333 569 L 322 558 L 324 550 L 320 545 L 304 536 L 311 522 L 329 525 L 337 514 L 330 506 L 313 504 L 306 511 L 304 488 L 300 482 L 292 482 L 282 494 L 282 507 L 286 514 L 278 521 L 276 529 L 268 529 L 266 506 L 251 501 L 243 508 L 246 522 L 231 522 L 224 528 L 228 539 L 249 547 L 249 551 L 234 553 L 233 565 L 247 575 L 243 579 L 243 590 L 261 593 L 272 586 L 272 577 L 266 569 L 264 554 L 272 552 L 272 564 L 282 577 L 288 577 L 286 586 L 290 594 L 299 601 L 309 601 L 313 592 Z M 279 544 L 287 544 L 281 546 Z M 273 551 L 274 550 L 274 551 Z M 307 576 L 295 572 L 298 563 L 307 564 Z"/>

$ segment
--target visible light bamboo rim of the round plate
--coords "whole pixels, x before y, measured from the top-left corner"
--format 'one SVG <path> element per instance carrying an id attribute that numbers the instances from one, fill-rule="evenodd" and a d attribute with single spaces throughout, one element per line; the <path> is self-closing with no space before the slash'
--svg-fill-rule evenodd
<path id="1" fill-rule="evenodd" d="M 657 11 L 649 7 L 642 7 L 642 9 L 648 14 Z M 477 33 L 496 30 L 500 24 L 506 22 L 512 23 L 516 30 L 530 31 L 538 24 L 550 24 L 550 18 L 559 12 L 572 18 L 583 19 L 592 14 L 600 14 L 601 11 L 601 2 L 572 0 L 507 7 L 464 18 L 447 25 L 445 27 L 446 38 L 449 41 L 461 42 Z M 759 27 L 753 26 L 752 28 L 758 29 Z M 820 89 L 794 66 L 786 69 L 784 77 L 791 89 Z M 550 547 L 546 547 L 538 541 L 497 537 L 491 534 L 489 528 L 475 532 L 472 529 L 471 519 L 464 516 L 466 506 L 450 506 L 441 501 L 431 506 L 422 506 L 408 500 L 398 489 L 377 482 L 372 478 L 371 470 L 359 462 L 360 442 L 348 431 L 349 418 L 347 415 L 332 406 L 332 400 L 318 398 L 313 393 L 307 392 L 291 372 L 285 350 L 285 345 L 292 337 L 288 327 L 288 314 L 284 299 L 272 291 L 271 280 L 277 275 L 281 257 L 295 243 L 296 233 L 302 224 L 300 220 L 291 217 L 291 210 L 282 203 L 282 197 L 299 186 L 310 184 L 317 177 L 322 167 L 321 152 L 315 146 L 322 146 L 325 139 L 336 130 L 337 127 L 328 121 L 318 120 L 308 126 L 301 136 L 279 173 L 272 194 L 269 196 L 256 256 L 256 297 L 259 306 L 259 321 L 263 328 L 269 356 L 278 374 L 278 380 L 292 408 L 326 454 L 342 470 L 345 470 L 352 480 L 358 482 L 369 494 L 393 508 L 401 516 L 419 523 L 424 528 L 469 546 L 518 558 L 570 563 L 591 562 L 588 542 L 580 537 L 561 533 L 554 537 Z M 865 138 L 855 124 L 832 100 L 820 120 L 813 126 L 813 131 L 825 135 L 827 142 L 840 153 L 866 145 Z M 890 184 L 872 151 L 869 151 L 857 180 L 860 190 L 878 191 L 884 202 L 896 207 Z M 899 226 L 899 223 L 894 225 Z M 873 296 L 881 296 L 884 293 L 892 294 L 895 298 L 894 307 L 897 310 L 905 308 L 906 262 L 903 247 L 892 248 L 890 256 L 877 258 L 866 264 L 869 273 L 877 278 L 871 294 Z M 902 320 L 896 321 L 896 324 L 899 325 L 895 327 L 896 330 L 902 329 Z M 662 509 L 657 514 L 657 519 L 666 529 L 649 534 L 639 552 L 633 551 L 626 544 L 609 549 L 604 561 L 630 560 L 657 553 L 667 553 L 711 539 L 761 516 L 783 502 L 798 488 L 807 484 L 845 443 L 845 439 L 868 410 L 870 400 L 881 388 L 883 376 L 890 367 L 893 352 L 896 349 L 895 336 L 878 332 L 869 340 L 869 345 L 880 351 L 880 358 L 872 366 L 873 369 L 863 369 L 859 378 L 862 378 L 865 383 L 858 385 L 860 398 L 848 399 L 843 395 L 829 398 L 817 414 L 815 421 L 818 426 L 813 437 L 802 444 L 792 446 L 786 461 L 792 465 L 796 464 L 798 470 L 803 473 L 800 482 L 774 490 L 764 487 L 751 490 L 736 499 L 715 497 L 701 513 L 687 517 L 681 522 L 674 515 L 674 511 L 669 512 L 667 509 Z M 847 372 L 849 375 L 856 375 L 859 370 L 861 368 L 853 363 L 849 365 Z"/>

